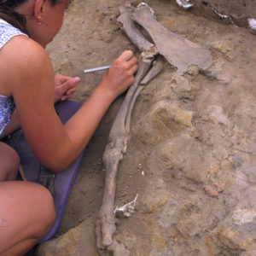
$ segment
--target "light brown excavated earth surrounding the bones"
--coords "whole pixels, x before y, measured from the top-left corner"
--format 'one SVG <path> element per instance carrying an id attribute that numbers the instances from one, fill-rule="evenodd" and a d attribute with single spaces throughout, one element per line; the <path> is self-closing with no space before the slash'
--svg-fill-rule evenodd
<path id="1" fill-rule="evenodd" d="M 166 63 L 137 99 L 116 194 L 117 206 L 138 194 L 135 215 L 120 219 L 116 236 L 131 255 L 256 255 L 256 38 L 246 28 L 255 2 L 207 2 L 236 24 L 201 2 L 186 11 L 147 1 L 163 26 L 210 49 L 213 65 L 178 76 Z M 55 72 L 81 78 L 73 100 L 86 101 L 104 73 L 85 68 L 108 65 L 125 49 L 137 54 L 116 22 L 124 3 L 73 0 L 49 45 Z M 37 255 L 98 255 L 102 153 L 122 99 L 90 140 L 60 229 Z"/>

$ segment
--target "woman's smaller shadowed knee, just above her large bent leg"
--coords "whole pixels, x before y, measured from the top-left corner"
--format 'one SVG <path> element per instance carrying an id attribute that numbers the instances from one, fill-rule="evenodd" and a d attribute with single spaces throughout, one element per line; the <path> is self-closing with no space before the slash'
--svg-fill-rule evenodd
<path id="1" fill-rule="evenodd" d="M 20 157 L 14 148 L 0 142 L 0 181 L 14 180 L 20 166 Z"/>

